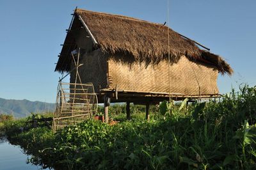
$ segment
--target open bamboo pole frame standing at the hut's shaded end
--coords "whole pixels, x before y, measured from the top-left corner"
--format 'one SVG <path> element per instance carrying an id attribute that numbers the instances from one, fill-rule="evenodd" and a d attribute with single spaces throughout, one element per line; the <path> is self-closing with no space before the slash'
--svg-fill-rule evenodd
<path id="1" fill-rule="evenodd" d="M 76 79 L 75 82 L 62 82 L 70 74 L 68 73 L 58 83 L 56 111 L 52 121 L 54 132 L 67 125 L 90 119 L 97 112 L 98 100 L 93 84 L 83 83 L 79 75 L 79 66 L 83 65 L 79 65 L 80 50 L 71 52 L 71 56 L 75 67 L 70 72 L 76 71 Z"/>

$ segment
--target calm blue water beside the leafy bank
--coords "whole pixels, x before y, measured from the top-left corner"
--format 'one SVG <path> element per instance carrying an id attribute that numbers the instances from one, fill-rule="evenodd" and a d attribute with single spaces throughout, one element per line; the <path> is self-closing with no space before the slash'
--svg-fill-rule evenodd
<path id="1" fill-rule="evenodd" d="M 26 164 L 28 155 L 22 153 L 19 146 L 10 144 L 6 139 L 0 139 L 0 170 L 2 169 L 41 169 L 41 166 Z"/>

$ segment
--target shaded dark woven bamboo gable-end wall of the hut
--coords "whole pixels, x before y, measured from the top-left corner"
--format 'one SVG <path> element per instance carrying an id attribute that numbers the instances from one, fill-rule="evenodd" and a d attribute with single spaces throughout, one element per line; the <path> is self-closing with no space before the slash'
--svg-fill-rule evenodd
<path id="1" fill-rule="evenodd" d="M 79 67 L 81 82 L 92 82 L 95 93 L 99 93 L 100 88 L 102 89 L 108 86 L 107 58 L 101 50 L 94 50 L 93 52 L 83 54 L 80 57 L 79 64 L 83 64 L 83 66 Z M 72 68 L 74 68 L 74 62 L 72 62 Z M 75 82 L 75 79 L 76 72 L 74 71 L 70 73 L 70 82 Z"/>

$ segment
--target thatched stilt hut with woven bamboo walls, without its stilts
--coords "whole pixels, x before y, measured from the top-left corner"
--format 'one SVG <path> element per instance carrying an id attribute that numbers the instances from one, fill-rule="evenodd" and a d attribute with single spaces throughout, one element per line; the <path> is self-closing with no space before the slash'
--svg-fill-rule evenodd
<path id="1" fill-rule="evenodd" d="M 169 37 L 168 37 L 169 36 Z M 232 68 L 218 55 L 163 24 L 76 9 L 55 71 L 92 82 L 99 102 L 157 103 L 169 98 L 218 95 L 219 73 Z"/>

